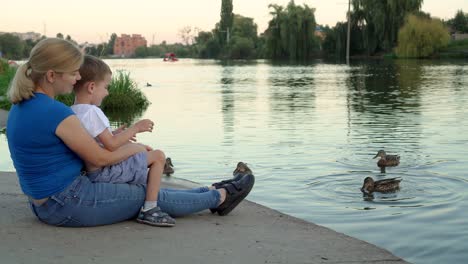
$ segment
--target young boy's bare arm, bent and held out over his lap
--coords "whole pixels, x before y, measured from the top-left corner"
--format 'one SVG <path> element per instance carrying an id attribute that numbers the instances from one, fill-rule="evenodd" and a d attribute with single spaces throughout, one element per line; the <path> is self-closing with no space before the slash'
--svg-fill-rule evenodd
<path id="1" fill-rule="evenodd" d="M 135 137 L 137 133 L 146 131 L 152 132 L 153 125 L 153 121 L 149 119 L 143 119 L 116 135 L 113 135 L 108 129 L 105 129 L 97 136 L 97 138 L 104 145 L 104 148 L 109 151 L 115 151 L 116 149 L 128 143 L 132 138 Z"/>

